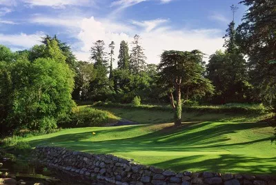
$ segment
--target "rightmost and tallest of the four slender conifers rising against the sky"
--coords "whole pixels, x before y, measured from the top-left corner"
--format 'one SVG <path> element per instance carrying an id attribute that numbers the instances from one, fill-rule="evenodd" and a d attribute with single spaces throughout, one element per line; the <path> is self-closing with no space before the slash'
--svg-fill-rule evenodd
<path id="1" fill-rule="evenodd" d="M 132 50 L 130 54 L 130 70 L 135 74 L 144 70 L 146 66 L 146 56 L 144 54 L 144 48 L 139 44 L 140 36 L 135 35 L 134 41 L 132 41 Z"/>

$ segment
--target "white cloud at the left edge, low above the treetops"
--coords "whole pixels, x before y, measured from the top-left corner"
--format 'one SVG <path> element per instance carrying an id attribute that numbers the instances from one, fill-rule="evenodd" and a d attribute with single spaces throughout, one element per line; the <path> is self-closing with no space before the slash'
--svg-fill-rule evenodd
<path id="1" fill-rule="evenodd" d="M 25 33 L 17 35 L 4 35 L 0 33 L 0 43 L 13 48 L 31 48 L 35 44 L 40 44 L 43 32 L 37 32 L 32 35 L 26 35 Z"/>

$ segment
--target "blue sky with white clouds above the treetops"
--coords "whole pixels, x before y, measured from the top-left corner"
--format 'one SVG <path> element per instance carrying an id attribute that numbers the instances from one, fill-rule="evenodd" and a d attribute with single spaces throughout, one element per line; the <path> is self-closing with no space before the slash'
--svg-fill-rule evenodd
<path id="1" fill-rule="evenodd" d="M 239 0 L 0 0 L 0 44 L 12 50 L 41 44 L 57 35 L 77 59 L 88 61 L 92 43 L 119 43 L 141 36 L 148 64 L 158 64 L 164 50 L 201 50 L 212 55 L 223 49 L 225 30 L 241 23 L 246 6 Z M 117 61 L 115 61 L 115 66 Z"/>

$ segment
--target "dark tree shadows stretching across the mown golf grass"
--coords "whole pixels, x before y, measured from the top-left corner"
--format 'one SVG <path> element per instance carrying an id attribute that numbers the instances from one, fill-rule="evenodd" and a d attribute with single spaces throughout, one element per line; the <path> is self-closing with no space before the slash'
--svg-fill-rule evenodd
<path id="1" fill-rule="evenodd" d="M 118 135 L 131 133 L 134 129 L 150 129 L 157 125 L 139 125 L 117 127 L 114 129 L 98 130 L 97 135 Z M 276 157 L 252 157 L 248 155 L 232 154 L 230 149 L 244 148 L 251 144 L 269 142 L 270 137 L 260 137 L 244 142 L 230 142 L 227 136 L 230 133 L 237 133 L 241 130 L 266 128 L 266 123 L 212 123 L 194 122 L 183 124 L 179 128 L 168 127 L 152 133 L 129 137 L 124 139 L 106 139 L 95 142 L 88 141 L 91 132 L 68 133 L 55 137 L 37 139 L 30 142 L 32 146 L 55 145 L 81 150 L 90 153 L 133 153 L 133 152 L 154 152 L 161 153 L 161 156 L 175 155 L 175 158 L 168 156 L 161 162 L 149 162 L 150 165 L 162 168 L 172 168 L 175 171 L 184 171 L 190 168 L 201 168 L 202 171 L 239 172 L 244 173 L 276 173 Z M 137 131 L 137 130 L 136 130 Z M 254 137 L 253 137 L 254 138 Z M 257 138 L 257 137 L 255 137 Z M 242 141 L 242 140 L 241 140 Z M 53 143 L 53 144 L 52 144 Z M 194 156 L 189 153 L 195 154 Z M 202 153 L 208 153 L 201 155 Z M 246 152 L 244 152 L 246 153 Z M 265 151 L 264 151 L 265 153 Z M 186 156 L 184 156 L 186 155 Z M 209 159 L 206 156 L 209 155 Z M 152 156 L 154 157 L 154 156 Z M 163 161 L 163 162 L 162 162 Z"/>

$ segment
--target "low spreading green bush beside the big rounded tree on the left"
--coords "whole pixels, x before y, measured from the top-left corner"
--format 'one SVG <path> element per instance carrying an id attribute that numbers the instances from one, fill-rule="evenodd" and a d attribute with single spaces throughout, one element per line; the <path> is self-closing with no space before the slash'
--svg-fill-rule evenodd
<path id="1" fill-rule="evenodd" d="M 91 126 L 103 126 L 104 124 L 115 123 L 118 118 L 105 110 L 97 110 L 88 106 L 72 109 L 69 122 L 61 124 L 63 128 L 80 128 Z"/>

